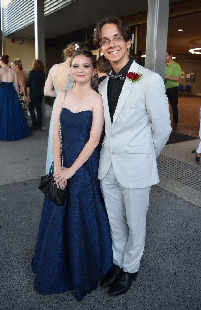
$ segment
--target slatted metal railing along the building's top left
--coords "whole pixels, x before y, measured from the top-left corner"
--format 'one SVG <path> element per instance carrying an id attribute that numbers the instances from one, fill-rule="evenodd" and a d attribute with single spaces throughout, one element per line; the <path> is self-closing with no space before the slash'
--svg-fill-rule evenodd
<path id="1" fill-rule="evenodd" d="M 42 1 L 42 0 L 41 0 Z M 77 0 L 45 0 L 44 15 L 54 13 Z M 34 22 L 34 0 L 13 0 L 3 9 L 4 36 Z"/>

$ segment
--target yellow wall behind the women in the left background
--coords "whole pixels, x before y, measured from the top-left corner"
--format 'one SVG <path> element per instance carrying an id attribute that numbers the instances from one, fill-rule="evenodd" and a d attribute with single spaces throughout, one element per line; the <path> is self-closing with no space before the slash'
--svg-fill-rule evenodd
<path id="1" fill-rule="evenodd" d="M 15 58 L 22 60 L 23 69 L 28 73 L 32 69 L 32 62 L 35 59 L 35 45 L 34 40 L 23 39 L 23 44 L 19 44 L 18 40 L 22 38 L 15 38 L 15 43 L 11 42 L 12 38 L 3 37 L 2 54 L 9 55 L 9 64 Z"/>

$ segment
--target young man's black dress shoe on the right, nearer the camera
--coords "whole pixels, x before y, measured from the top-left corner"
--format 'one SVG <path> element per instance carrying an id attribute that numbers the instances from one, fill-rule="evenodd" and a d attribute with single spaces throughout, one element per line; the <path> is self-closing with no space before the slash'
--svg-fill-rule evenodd
<path id="1" fill-rule="evenodd" d="M 109 289 L 110 296 L 118 296 L 126 293 L 133 281 L 137 279 L 138 273 L 129 273 L 123 271 L 118 278 L 114 281 L 113 285 Z"/>

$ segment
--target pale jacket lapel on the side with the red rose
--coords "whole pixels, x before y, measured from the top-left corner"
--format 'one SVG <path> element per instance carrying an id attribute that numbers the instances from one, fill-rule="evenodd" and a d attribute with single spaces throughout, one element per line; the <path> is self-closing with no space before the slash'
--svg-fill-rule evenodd
<path id="1" fill-rule="evenodd" d="M 138 68 L 139 68 L 139 64 L 137 64 L 135 61 L 133 61 L 132 65 L 130 66 L 128 72 L 135 72 L 135 73 L 138 73 Z M 113 116 L 113 122 L 112 122 L 112 128 L 119 116 L 119 113 L 121 112 L 127 98 L 128 98 L 128 95 L 130 94 L 130 91 L 132 89 L 132 87 L 134 87 L 134 83 L 131 83 L 130 85 L 130 88 L 128 90 L 128 86 L 129 86 L 129 83 L 130 83 L 130 80 L 129 78 L 126 77 L 125 79 L 125 82 L 123 84 L 123 87 L 122 87 L 122 91 L 121 91 L 121 94 L 119 96 L 119 100 L 118 100 L 118 103 L 117 103 L 117 107 L 116 107 L 116 110 L 115 110 L 115 113 L 114 113 L 114 116 Z M 108 104 L 107 104 L 108 105 Z M 109 110 L 109 108 L 108 108 Z M 110 115 L 109 115 L 110 117 Z"/>

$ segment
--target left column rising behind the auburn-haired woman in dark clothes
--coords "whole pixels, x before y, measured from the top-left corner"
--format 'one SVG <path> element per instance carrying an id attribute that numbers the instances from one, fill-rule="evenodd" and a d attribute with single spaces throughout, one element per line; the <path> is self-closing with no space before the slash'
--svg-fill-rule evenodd
<path id="1" fill-rule="evenodd" d="M 34 0 L 35 59 L 40 59 L 45 68 L 44 0 Z M 42 125 L 46 125 L 45 97 L 42 101 Z"/>

